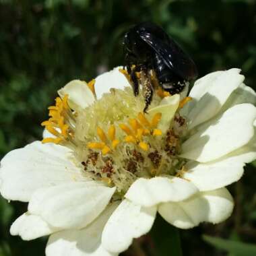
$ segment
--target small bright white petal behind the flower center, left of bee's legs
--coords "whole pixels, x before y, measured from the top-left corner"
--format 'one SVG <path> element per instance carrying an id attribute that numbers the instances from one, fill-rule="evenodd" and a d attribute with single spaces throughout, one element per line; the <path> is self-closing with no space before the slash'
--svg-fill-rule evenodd
<path id="1" fill-rule="evenodd" d="M 96 77 L 94 88 L 98 99 L 101 98 L 104 93 L 110 92 L 111 88 L 123 89 L 126 86 L 130 86 L 125 75 L 119 71 L 121 68 L 122 67 L 115 67 L 115 69 Z"/>

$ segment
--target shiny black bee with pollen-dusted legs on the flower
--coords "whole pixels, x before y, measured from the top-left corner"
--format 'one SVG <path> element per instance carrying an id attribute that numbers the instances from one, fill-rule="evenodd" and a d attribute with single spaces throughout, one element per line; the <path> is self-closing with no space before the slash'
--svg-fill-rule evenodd
<path id="1" fill-rule="evenodd" d="M 182 92 L 188 81 L 197 77 L 193 60 L 156 24 L 143 22 L 134 26 L 125 34 L 123 44 L 124 68 L 131 77 L 135 96 L 139 93 L 139 84 L 146 86 L 144 112 L 154 93 L 152 77 L 170 94 Z"/>

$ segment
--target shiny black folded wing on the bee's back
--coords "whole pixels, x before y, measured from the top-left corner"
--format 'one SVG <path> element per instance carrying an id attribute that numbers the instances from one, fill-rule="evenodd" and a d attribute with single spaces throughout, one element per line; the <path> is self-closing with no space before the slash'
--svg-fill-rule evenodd
<path id="1" fill-rule="evenodd" d="M 156 51 L 174 73 L 177 73 L 184 79 L 197 77 L 197 67 L 191 57 L 185 54 L 181 47 L 167 35 L 165 38 L 159 38 L 153 33 L 141 31 L 139 36 Z"/>

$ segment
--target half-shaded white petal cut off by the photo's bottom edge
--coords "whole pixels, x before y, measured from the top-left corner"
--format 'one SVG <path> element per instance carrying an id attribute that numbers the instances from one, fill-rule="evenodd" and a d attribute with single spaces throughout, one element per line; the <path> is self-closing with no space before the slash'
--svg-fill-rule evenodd
<path id="1" fill-rule="evenodd" d="M 117 204 L 110 205 L 94 222 L 82 230 L 65 230 L 50 236 L 46 256 L 114 256 L 101 245 L 104 225 Z"/>

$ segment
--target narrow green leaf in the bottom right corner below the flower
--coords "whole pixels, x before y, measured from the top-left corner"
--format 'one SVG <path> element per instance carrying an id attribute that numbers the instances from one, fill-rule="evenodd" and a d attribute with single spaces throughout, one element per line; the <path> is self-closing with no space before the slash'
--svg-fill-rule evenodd
<path id="1" fill-rule="evenodd" d="M 218 249 L 227 251 L 234 256 L 255 256 L 256 245 L 249 243 L 242 243 L 238 241 L 231 241 L 228 239 L 217 238 L 212 236 L 203 236 L 203 240 L 210 243 Z"/>

